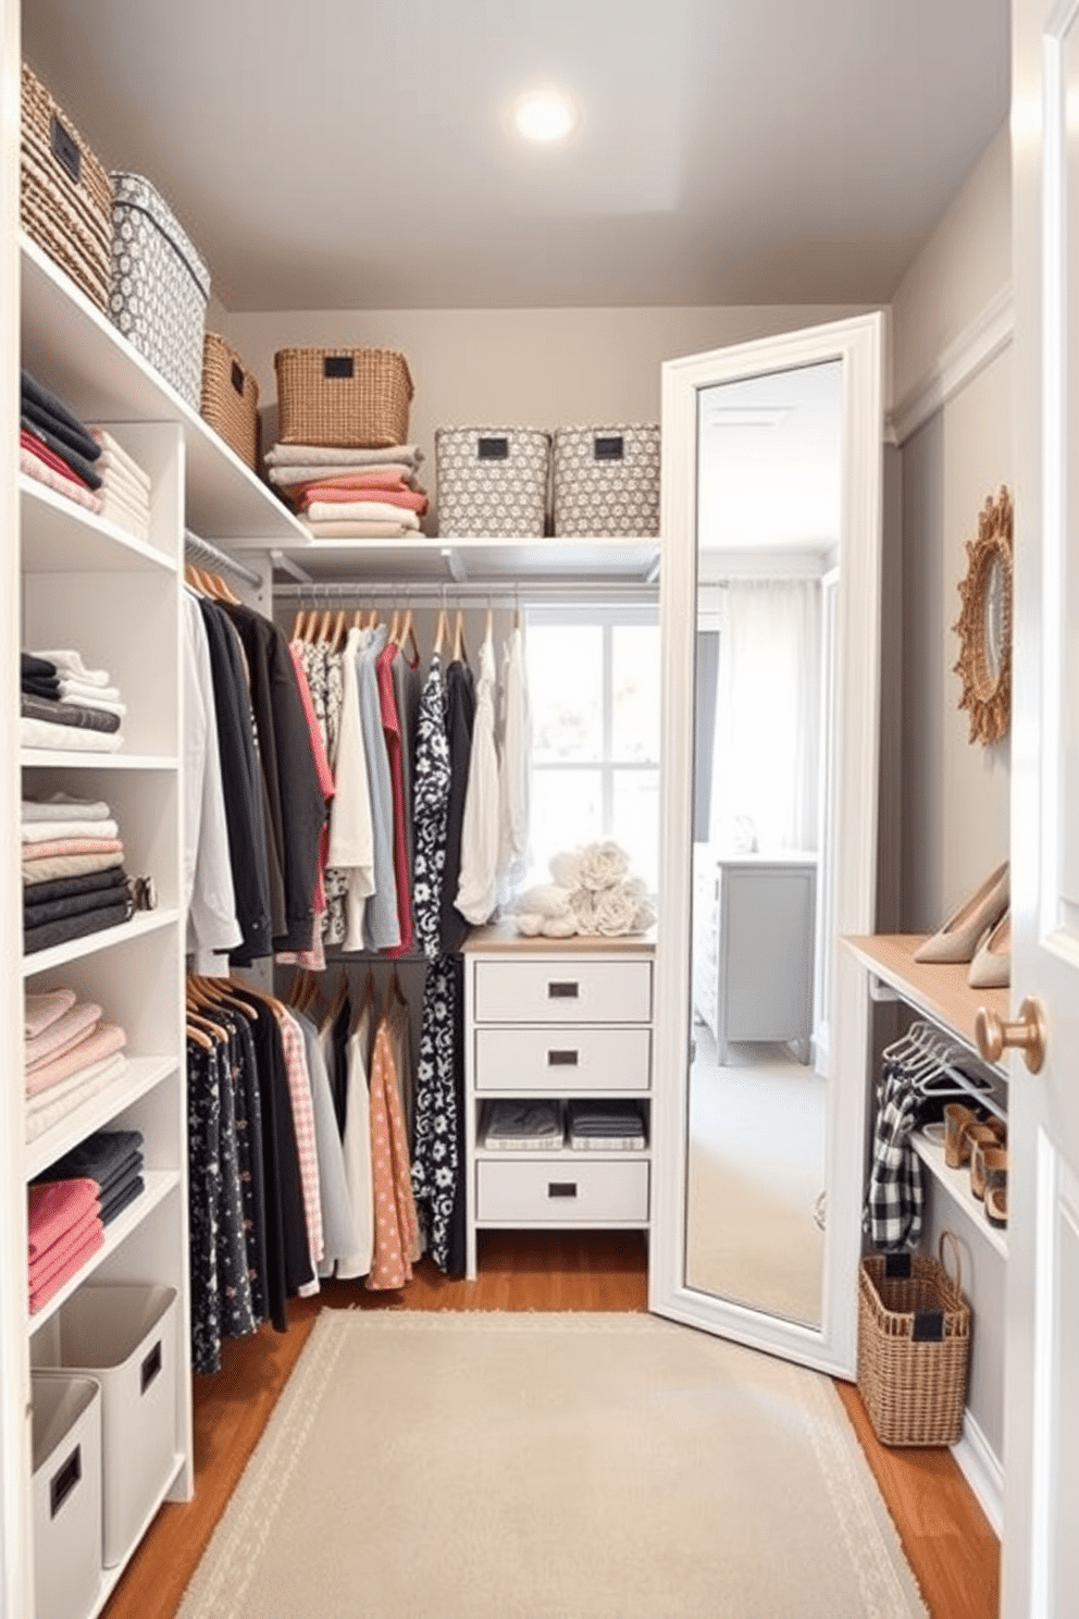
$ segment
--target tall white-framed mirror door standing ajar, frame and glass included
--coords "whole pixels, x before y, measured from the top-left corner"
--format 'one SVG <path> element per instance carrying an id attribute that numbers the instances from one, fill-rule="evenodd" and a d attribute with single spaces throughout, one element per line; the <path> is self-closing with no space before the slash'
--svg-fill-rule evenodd
<path id="1" fill-rule="evenodd" d="M 836 937 L 874 931 L 880 482 L 880 316 L 663 366 L 649 1303 L 846 1376 L 869 1038 Z"/>

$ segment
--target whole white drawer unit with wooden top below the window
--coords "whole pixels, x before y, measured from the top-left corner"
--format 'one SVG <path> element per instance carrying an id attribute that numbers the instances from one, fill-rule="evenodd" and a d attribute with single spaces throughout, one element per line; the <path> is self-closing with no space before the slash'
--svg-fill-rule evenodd
<path id="1" fill-rule="evenodd" d="M 524 939 L 477 929 L 464 945 L 466 1274 L 477 1230 L 649 1229 L 649 1146 L 592 1151 L 480 1145 L 484 1109 L 527 1099 L 595 1099 L 600 1120 L 624 1099 L 652 1125 L 652 971 L 649 937 Z M 603 1128 L 600 1122 L 600 1128 Z M 487 1125 L 484 1127 L 487 1128 Z M 637 1128 L 639 1133 L 639 1128 Z"/>

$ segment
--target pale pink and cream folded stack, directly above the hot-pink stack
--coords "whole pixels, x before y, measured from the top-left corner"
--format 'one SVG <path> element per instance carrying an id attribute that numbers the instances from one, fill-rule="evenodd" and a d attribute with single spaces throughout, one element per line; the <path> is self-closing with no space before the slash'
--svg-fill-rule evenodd
<path id="1" fill-rule="evenodd" d="M 26 996 L 23 1075 L 26 1140 L 34 1141 L 126 1067 L 125 1030 L 102 1023 L 102 1009 L 74 989 Z"/>

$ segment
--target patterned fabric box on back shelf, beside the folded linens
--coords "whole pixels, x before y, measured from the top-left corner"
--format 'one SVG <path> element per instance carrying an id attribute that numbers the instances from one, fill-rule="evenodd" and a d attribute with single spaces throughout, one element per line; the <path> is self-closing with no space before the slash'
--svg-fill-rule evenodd
<path id="1" fill-rule="evenodd" d="M 437 427 L 438 534 L 542 538 L 548 468 L 539 427 Z"/>

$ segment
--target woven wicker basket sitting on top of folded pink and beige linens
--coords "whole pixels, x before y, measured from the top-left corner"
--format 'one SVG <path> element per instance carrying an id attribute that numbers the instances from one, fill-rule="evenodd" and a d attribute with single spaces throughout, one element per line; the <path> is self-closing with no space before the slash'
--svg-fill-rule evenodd
<path id="1" fill-rule="evenodd" d="M 396 348 L 280 348 L 278 439 L 338 450 L 408 444 L 413 379 Z"/>

